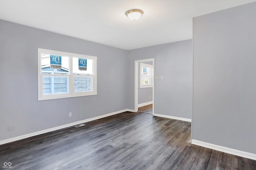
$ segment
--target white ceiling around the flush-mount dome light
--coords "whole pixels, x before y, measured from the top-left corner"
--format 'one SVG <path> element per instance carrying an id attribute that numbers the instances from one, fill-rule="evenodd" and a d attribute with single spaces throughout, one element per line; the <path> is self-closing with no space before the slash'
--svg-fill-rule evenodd
<path id="1" fill-rule="evenodd" d="M 191 39 L 193 17 L 255 1 L 0 0 L 0 19 L 129 50 Z"/>

